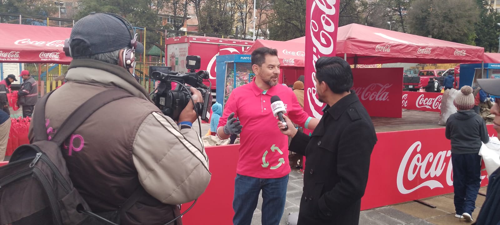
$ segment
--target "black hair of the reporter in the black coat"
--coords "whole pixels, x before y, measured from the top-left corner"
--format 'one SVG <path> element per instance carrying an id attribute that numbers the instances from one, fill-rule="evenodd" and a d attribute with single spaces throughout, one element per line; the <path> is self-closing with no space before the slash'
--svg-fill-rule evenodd
<path id="1" fill-rule="evenodd" d="M 352 87 L 352 70 L 340 57 L 319 57 L 316 61 L 316 79 L 324 81 L 333 93 L 349 91 Z"/>

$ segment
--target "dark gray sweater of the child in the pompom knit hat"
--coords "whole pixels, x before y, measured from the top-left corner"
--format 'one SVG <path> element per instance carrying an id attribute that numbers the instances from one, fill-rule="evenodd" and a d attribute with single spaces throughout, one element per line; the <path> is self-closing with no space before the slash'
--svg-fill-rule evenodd
<path id="1" fill-rule="evenodd" d="M 486 123 L 474 110 L 458 110 L 446 120 L 446 138 L 451 140 L 451 153 L 478 153 L 481 141 L 489 141 Z"/>

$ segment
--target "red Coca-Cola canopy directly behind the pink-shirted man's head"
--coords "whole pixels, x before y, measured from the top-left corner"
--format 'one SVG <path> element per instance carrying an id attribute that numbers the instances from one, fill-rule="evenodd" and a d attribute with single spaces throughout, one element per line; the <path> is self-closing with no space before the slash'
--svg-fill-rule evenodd
<path id="1" fill-rule="evenodd" d="M 280 66 L 304 67 L 304 42 L 290 44 L 288 41 L 257 39 L 251 47 L 245 51 L 245 54 L 251 54 L 253 50 L 259 47 L 276 48 L 278 50 L 278 58 L 281 63 Z"/>

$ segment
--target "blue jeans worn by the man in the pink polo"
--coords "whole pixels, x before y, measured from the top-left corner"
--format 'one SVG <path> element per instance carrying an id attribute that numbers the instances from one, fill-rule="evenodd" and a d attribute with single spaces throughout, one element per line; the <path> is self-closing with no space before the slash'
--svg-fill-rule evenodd
<path id="1" fill-rule="evenodd" d="M 262 225 L 278 225 L 286 200 L 288 175 L 280 178 L 256 178 L 236 174 L 232 208 L 234 225 L 250 225 L 262 190 Z"/>

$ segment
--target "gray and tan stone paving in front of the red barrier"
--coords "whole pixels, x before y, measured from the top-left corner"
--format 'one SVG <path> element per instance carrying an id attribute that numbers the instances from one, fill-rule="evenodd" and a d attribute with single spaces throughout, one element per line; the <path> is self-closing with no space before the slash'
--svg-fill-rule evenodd
<path id="1" fill-rule="evenodd" d="M 302 194 L 302 173 L 298 169 L 292 169 L 288 181 L 286 192 L 286 203 L 280 225 L 286 224 L 286 217 L 290 212 L 298 211 L 300 196 Z M 486 193 L 486 187 L 482 187 L 479 192 Z M 445 194 L 430 198 L 421 199 L 427 203 L 435 205 L 431 208 L 415 201 L 404 202 L 395 205 L 379 207 L 361 211 L 359 216 L 360 225 L 452 225 L 471 224 L 464 219 L 454 217 L 453 194 Z M 484 196 L 477 195 L 476 210 L 472 217 L 479 213 L 480 206 L 484 202 Z M 261 224 L 262 197 L 259 196 L 257 208 L 253 213 L 251 225 Z"/>

